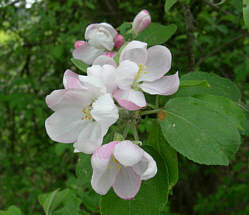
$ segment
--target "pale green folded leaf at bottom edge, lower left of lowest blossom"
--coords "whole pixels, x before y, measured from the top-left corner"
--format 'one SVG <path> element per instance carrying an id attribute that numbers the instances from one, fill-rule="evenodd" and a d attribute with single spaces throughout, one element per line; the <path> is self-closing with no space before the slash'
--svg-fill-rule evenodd
<path id="1" fill-rule="evenodd" d="M 52 214 L 52 212 L 62 203 L 69 193 L 69 189 L 59 191 L 57 189 L 51 193 L 41 194 L 38 196 L 38 200 L 42 205 L 46 215 Z"/>

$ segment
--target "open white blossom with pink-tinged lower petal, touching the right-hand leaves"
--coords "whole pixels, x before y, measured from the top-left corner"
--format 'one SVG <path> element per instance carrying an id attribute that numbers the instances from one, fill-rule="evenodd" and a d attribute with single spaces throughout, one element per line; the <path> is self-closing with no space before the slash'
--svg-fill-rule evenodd
<path id="1" fill-rule="evenodd" d="M 164 76 L 171 68 L 171 53 L 165 46 L 147 50 L 147 44 L 132 41 L 120 54 L 116 81 L 119 90 L 114 98 L 128 110 L 146 106 L 142 91 L 149 94 L 171 95 L 179 88 L 178 72 Z"/>

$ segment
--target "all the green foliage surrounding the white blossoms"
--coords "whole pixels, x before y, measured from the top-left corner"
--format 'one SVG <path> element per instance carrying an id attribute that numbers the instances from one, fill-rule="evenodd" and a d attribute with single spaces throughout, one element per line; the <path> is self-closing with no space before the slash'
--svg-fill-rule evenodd
<path id="1" fill-rule="evenodd" d="M 129 208 L 133 215 L 140 212 L 144 199 L 143 214 L 247 214 L 249 115 L 244 119 L 244 112 L 249 104 L 249 40 L 244 25 L 248 28 L 248 2 L 244 7 L 237 0 L 214 2 L 185 1 L 194 19 L 194 41 L 189 41 L 182 1 L 42 0 L 31 8 L 21 0 L 2 1 L 0 214 L 38 215 L 43 209 L 51 215 L 111 214 L 103 205 L 110 205 L 115 214 L 124 205 L 121 212 L 127 214 Z M 82 39 L 89 23 L 107 21 L 126 32 L 130 24 L 122 22 L 132 21 L 142 7 L 150 11 L 154 23 L 138 39 L 170 48 L 172 71 L 179 71 L 182 86 L 172 97 L 158 99 L 167 116 L 160 122 L 161 130 L 156 129 L 155 114 L 142 116 L 138 127 L 140 139 L 153 147 L 149 150 L 155 159 L 162 160 L 159 174 L 143 184 L 135 200 L 123 201 L 111 191 L 100 203 L 89 183 L 89 156 L 75 155 L 71 145 L 54 144 L 45 134 L 50 112 L 44 98 L 62 88 L 66 68 L 85 71 L 84 65 L 70 59 L 74 41 Z M 150 96 L 147 100 L 155 102 Z M 201 167 L 181 155 L 205 164 L 232 161 L 229 167 Z M 159 181 L 163 183 L 157 187 Z M 168 193 L 174 195 L 163 208 Z"/>

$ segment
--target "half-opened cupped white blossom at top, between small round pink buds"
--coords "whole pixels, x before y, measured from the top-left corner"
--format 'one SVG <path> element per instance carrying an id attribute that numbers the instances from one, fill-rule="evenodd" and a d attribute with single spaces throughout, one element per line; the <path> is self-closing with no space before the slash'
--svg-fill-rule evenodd
<path id="1" fill-rule="evenodd" d="M 74 49 L 73 57 L 82 60 L 86 64 L 92 64 L 105 51 L 112 51 L 116 35 L 117 31 L 110 24 L 88 25 L 85 31 L 87 42 Z"/>

